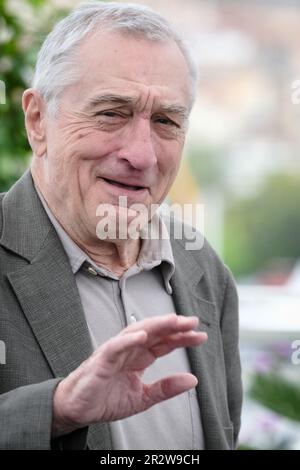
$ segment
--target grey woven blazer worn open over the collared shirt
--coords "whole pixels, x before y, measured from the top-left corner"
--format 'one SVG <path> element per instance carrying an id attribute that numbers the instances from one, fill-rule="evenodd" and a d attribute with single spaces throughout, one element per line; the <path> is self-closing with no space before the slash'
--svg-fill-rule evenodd
<path id="1" fill-rule="evenodd" d="M 197 315 L 208 333 L 205 345 L 188 349 L 199 380 L 205 446 L 233 449 L 242 396 L 234 282 L 207 242 L 199 251 L 186 251 L 182 240 L 172 240 L 172 246 L 176 311 Z M 55 387 L 92 346 L 67 255 L 29 171 L 0 195 L 0 340 L 6 345 L 6 364 L 0 364 L 1 449 L 112 448 L 107 423 L 51 442 Z"/>

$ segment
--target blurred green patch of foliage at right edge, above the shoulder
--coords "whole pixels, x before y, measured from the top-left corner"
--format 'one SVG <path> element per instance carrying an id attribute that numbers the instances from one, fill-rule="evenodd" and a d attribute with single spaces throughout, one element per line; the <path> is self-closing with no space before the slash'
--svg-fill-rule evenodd
<path id="1" fill-rule="evenodd" d="M 225 217 L 225 262 L 236 276 L 275 258 L 300 254 L 300 176 L 270 176 L 249 199 L 236 200 Z"/>

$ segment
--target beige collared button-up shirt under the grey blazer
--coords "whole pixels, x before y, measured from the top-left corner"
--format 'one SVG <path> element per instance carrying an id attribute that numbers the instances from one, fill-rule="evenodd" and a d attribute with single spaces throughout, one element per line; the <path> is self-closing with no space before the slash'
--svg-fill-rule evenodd
<path id="1" fill-rule="evenodd" d="M 42 204 L 69 257 L 94 348 L 132 322 L 175 312 L 170 279 L 175 270 L 170 240 L 142 241 L 137 262 L 121 278 L 96 265 L 55 219 L 41 193 Z M 166 233 L 155 215 L 152 234 Z M 190 372 L 186 350 L 161 357 L 143 380 L 152 383 L 178 372 Z M 155 405 L 129 418 L 110 423 L 113 449 L 200 450 L 204 448 L 200 409 L 195 390 Z"/>

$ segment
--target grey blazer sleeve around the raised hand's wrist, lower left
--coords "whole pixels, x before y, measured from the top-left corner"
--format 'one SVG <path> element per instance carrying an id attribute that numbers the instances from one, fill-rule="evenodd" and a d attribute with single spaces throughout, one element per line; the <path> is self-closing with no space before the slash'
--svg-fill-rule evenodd
<path id="1" fill-rule="evenodd" d="M 61 381 L 51 379 L 0 395 L 0 449 L 85 449 L 87 428 L 51 440 L 53 394 Z"/>

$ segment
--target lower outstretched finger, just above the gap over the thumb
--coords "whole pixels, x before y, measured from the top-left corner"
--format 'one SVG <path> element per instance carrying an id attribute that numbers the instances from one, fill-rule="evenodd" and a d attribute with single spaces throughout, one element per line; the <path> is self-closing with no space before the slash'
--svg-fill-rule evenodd
<path id="1" fill-rule="evenodd" d="M 207 334 L 204 332 L 188 331 L 186 333 L 177 333 L 164 338 L 158 344 L 150 348 L 153 355 L 158 358 L 165 356 L 174 349 L 200 346 L 207 341 Z"/>

